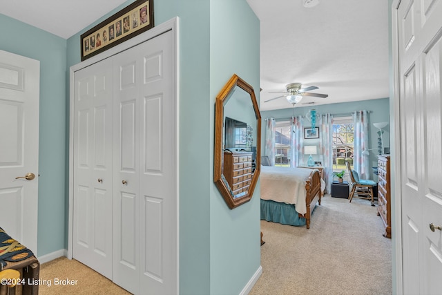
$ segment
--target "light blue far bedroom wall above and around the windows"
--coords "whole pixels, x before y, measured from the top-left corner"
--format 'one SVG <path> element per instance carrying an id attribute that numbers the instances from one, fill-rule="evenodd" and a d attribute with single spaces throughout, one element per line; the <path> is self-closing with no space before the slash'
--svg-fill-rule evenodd
<path id="1" fill-rule="evenodd" d="M 370 99 L 363 100 L 360 102 L 345 102 L 340 104 L 323 104 L 314 107 L 295 107 L 295 108 L 285 108 L 283 110 L 276 111 L 262 111 L 262 119 L 266 119 L 268 117 L 274 117 L 277 121 L 281 118 L 289 118 L 292 115 L 305 115 L 312 108 L 316 109 L 318 114 L 321 113 L 330 113 L 332 115 L 337 114 L 350 114 L 354 111 L 366 110 L 370 111 L 368 116 L 368 131 L 369 137 L 368 140 L 370 142 L 369 149 L 376 149 L 378 146 L 378 129 L 373 126 L 373 123 L 376 122 L 390 122 L 390 99 L 381 98 L 381 99 Z M 305 126 L 310 126 L 309 122 L 305 124 Z M 383 142 L 384 146 L 390 146 L 390 124 L 385 127 L 385 132 L 383 133 Z M 265 138 L 265 129 L 262 129 L 262 138 Z M 304 142 L 305 145 L 309 144 L 317 144 L 314 140 L 308 140 L 308 142 Z M 262 151 L 264 149 L 264 145 L 262 142 Z M 369 162 L 372 167 L 376 167 L 377 165 L 377 150 L 369 151 Z M 371 179 L 377 180 L 376 175 L 371 173 Z"/>

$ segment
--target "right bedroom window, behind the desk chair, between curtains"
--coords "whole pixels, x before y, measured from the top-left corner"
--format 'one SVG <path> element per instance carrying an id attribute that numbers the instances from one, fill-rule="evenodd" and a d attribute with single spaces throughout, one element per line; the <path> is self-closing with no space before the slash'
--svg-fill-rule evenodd
<path id="1" fill-rule="evenodd" d="M 333 169 L 346 169 L 345 161 L 353 165 L 354 126 L 352 117 L 337 117 L 333 120 Z"/>

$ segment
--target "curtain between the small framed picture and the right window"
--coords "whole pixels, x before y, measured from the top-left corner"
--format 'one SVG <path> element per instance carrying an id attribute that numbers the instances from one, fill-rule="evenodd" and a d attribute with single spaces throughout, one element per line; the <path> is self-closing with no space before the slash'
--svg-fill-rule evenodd
<path id="1" fill-rule="evenodd" d="M 333 182 L 333 117 L 330 114 L 319 116 L 320 142 L 319 154 L 320 161 L 324 166 L 325 191 L 332 193 Z"/>

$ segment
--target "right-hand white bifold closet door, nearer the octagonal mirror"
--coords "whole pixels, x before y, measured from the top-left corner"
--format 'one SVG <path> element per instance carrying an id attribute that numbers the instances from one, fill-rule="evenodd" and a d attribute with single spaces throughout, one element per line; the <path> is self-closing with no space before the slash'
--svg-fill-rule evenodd
<path id="1" fill-rule="evenodd" d="M 166 32 L 115 57 L 113 278 L 135 294 L 177 293 L 173 48 Z"/>

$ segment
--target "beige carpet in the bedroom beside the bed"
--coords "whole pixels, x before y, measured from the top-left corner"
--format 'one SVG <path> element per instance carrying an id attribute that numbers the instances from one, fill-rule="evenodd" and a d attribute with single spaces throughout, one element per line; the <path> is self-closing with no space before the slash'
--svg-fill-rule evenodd
<path id="1" fill-rule="evenodd" d="M 258 294 L 392 294 L 392 243 L 368 200 L 326 196 L 310 229 L 261 220 Z"/>

